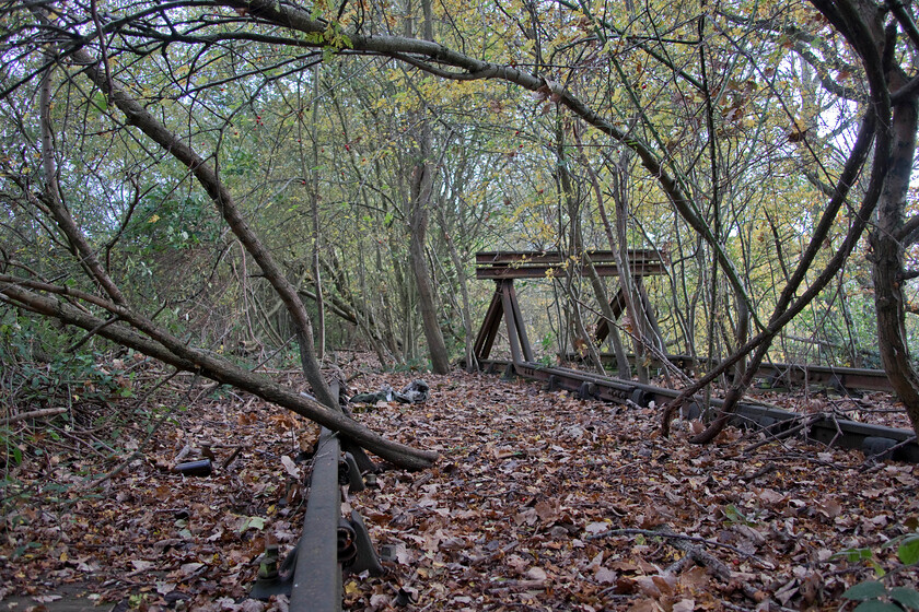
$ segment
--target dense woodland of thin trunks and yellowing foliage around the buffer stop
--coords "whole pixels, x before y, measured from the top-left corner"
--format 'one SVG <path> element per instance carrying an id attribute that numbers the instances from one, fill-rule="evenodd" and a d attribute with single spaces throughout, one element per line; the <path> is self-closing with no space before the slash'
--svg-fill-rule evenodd
<path id="1" fill-rule="evenodd" d="M 620 376 L 626 345 L 641 380 L 644 355 L 711 358 L 665 432 L 728 373 L 695 442 L 765 360 L 857 365 L 866 345 L 919 432 L 911 5 L 493 9 L 3 4 L 3 316 L 61 319 L 417 468 L 433 456 L 338 410 L 326 343 L 472 367 L 490 289 L 474 252 L 554 250 L 565 274 L 521 291 L 548 315 L 530 321 L 545 358 L 577 345 L 602 369 L 595 313 Z M 632 275 L 630 248 L 667 274 Z M 596 249 L 618 254 L 616 284 L 574 272 Z M 318 403 L 225 358 L 291 342 Z"/>

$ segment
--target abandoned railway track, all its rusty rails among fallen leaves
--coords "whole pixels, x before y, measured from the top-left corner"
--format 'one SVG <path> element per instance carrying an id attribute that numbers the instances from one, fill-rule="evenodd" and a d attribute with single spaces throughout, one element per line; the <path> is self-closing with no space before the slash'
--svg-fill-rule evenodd
<path id="1" fill-rule="evenodd" d="M 680 367 L 697 365 L 697 362 L 694 364 L 688 357 L 678 356 L 674 357 L 672 363 Z M 631 401 L 648 407 L 652 401 L 663 404 L 679 393 L 673 389 L 565 367 L 547 367 L 534 362 L 482 360 L 479 365 L 486 372 L 503 372 L 505 375 L 543 381 L 550 390 L 573 391 L 583 399 Z M 771 367 L 780 368 L 778 364 Z M 787 367 L 781 372 L 772 370 L 771 375 L 787 376 L 790 372 L 796 372 L 796 378 L 793 380 L 804 380 L 809 384 L 836 384 L 860 389 L 879 387 L 873 370 L 846 372 L 847 369 L 854 368 Z M 763 372 L 764 376 L 770 376 L 768 368 Z M 719 409 L 723 402 L 712 399 L 710 405 Z M 698 403 L 690 402 L 683 415 L 694 419 L 700 416 L 702 410 Z M 806 426 L 802 426 L 805 419 L 810 421 Z M 919 463 L 919 445 L 912 432 L 908 429 L 868 425 L 839 417 L 802 415 L 749 402 L 737 404 L 732 423 L 742 427 L 765 428 L 775 435 L 790 434 L 800 428 L 809 439 L 828 446 L 858 449 L 865 455 Z M 283 563 L 277 558 L 277 550 L 274 557 L 269 550 L 263 560 L 259 579 L 252 597 L 267 599 L 271 595 L 287 593 L 290 596 L 291 611 L 338 612 L 341 610 L 342 569 L 353 573 L 368 572 L 373 575 L 382 572 L 380 560 L 360 515 L 352 513 L 350 518 L 346 519 L 341 514 L 340 486 L 348 484 L 351 491 L 361 491 L 364 487 L 362 472 L 373 469 L 365 456 L 357 452 L 360 449 L 353 449 L 354 455 L 348 450 L 347 445 L 342 448 L 337 435 L 323 429 L 313 457 L 310 494 L 300 542 Z M 358 463 L 364 462 L 367 463 L 359 467 Z"/>

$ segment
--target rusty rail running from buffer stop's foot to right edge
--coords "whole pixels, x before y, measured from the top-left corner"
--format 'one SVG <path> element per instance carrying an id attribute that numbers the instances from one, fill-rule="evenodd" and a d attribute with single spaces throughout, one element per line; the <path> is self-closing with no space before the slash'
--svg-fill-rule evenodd
<path id="1" fill-rule="evenodd" d="M 575 391 L 584 399 L 618 402 L 628 400 L 647 407 L 652 400 L 658 404 L 663 404 L 679 395 L 679 391 L 674 389 L 563 367 L 547 367 L 533 362 L 513 364 L 504 360 L 487 360 L 480 362 L 479 367 L 490 373 L 501 370 L 505 376 L 517 375 L 532 380 L 542 380 L 549 390 Z M 724 405 L 717 398 L 712 398 L 710 404 L 716 410 Z M 689 402 L 683 415 L 695 419 L 701 415 L 702 411 L 701 405 Z M 801 423 L 805 416 L 787 410 L 741 402 L 734 410 L 732 424 L 758 426 L 772 434 L 780 434 Z M 810 423 L 806 436 L 822 444 L 862 450 L 866 455 L 891 456 L 898 461 L 919 463 L 919 444 L 916 443 L 916 436 L 910 429 L 868 425 L 848 419 L 819 417 Z"/>

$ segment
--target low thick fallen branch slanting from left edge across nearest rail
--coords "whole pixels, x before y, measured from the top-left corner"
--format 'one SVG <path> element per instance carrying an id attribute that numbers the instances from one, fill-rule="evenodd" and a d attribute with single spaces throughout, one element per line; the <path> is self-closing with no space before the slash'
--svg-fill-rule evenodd
<path id="1" fill-rule="evenodd" d="M 62 299 L 44 295 L 45 293 L 80 299 L 103 308 L 106 313 L 125 321 L 130 328 L 118 323 L 106 325 L 106 319 L 96 317 Z M 212 353 L 188 346 L 130 308 L 101 297 L 65 286 L 0 274 L 0 299 L 85 329 L 178 369 L 195 372 L 217 382 L 248 391 L 265 401 L 276 403 L 341 433 L 354 444 L 398 467 L 412 470 L 429 468 L 438 458 L 437 452 L 418 450 L 386 439 L 344 412 L 330 410 L 265 376 L 243 369 Z"/>

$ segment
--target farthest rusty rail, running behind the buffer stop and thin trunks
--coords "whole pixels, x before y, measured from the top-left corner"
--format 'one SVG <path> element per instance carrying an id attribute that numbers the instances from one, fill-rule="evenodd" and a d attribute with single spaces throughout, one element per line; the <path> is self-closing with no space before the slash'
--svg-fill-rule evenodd
<path id="1" fill-rule="evenodd" d="M 570 361 L 579 361 L 575 353 L 569 353 Z M 600 355 L 604 364 L 615 364 L 616 357 L 610 353 Z M 628 355 L 629 362 L 635 363 L 635 355 Z M 711 360 L 694 357 L 691 355 L 667 355 L 667 361 L 683 372 L 691 374 L 697 368 L 707 368 Z M 659 358 L 651 358 L 649 367 L 663 368 L 664 363 Z M 731 372 L 725 373 L 730 376 Z M 756 377 L 765 379 L 769 387 L 783 385 L 795 387 L 828 387 L 838 390 L 863 390 L 893 392 L 887 374 L 883 369 L 862 367 L 837 367 L 830 365 L 800 365 L 787 363 L 764 363 L 756 370 Z"/>

